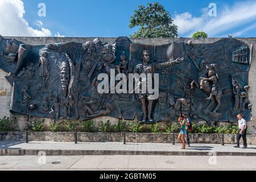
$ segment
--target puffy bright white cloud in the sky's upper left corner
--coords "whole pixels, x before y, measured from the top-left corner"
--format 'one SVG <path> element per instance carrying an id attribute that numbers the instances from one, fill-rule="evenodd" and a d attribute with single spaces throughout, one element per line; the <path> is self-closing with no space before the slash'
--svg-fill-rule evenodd
<path id="1" fill-rule="evenodd" d="M 43 27 L 43 22 L 36 20 L 38 29 L 29 26 L 26 19 L 24 4 L 21 0 L 0 1 L 0 34 L 2 36 L 52 36 L 48 28 Z M 59 34 L 56 34 L 59 35 Z"/>

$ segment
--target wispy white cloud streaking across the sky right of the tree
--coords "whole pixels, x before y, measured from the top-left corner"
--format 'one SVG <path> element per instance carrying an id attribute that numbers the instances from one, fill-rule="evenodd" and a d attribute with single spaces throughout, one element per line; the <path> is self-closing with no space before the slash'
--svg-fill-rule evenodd
<path id="1" fill-rule="evenodd" d="M 188 12 L 176 14 L 174 16 L 174 23 L 178 26 L 179 34 L 185 36 L 191 36 L 193 32 L 201 30 L 207 32 L 209 36 L 217 36 L 228 31 L 230 32 L 229 34 L 232 34 L 233 28 L 255 22 L 255 9 L 256 2 L 240 2 L 230 7 L 222 7 L 222 9 L 217 6 L 217 17 L 210 17 L 206 9 L 204 9 L 203 14 L 199 17 L 193 16 Z M 233 36 L 241 36 L 251 29 L 245 27 L 243 31 L 234 33 Z"/>

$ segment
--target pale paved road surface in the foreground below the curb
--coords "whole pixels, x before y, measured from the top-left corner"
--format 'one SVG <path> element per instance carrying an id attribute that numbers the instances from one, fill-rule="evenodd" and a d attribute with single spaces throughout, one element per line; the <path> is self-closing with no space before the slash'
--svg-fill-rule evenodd
<path id="1" fill-rule="evenodd" d="M 256 156 L 0 156 L 1 170 L 256 170 Z M 102 174 L 104 171 L 102 171 Z M 114 174 L 113 172 L 110 172 Z"/>

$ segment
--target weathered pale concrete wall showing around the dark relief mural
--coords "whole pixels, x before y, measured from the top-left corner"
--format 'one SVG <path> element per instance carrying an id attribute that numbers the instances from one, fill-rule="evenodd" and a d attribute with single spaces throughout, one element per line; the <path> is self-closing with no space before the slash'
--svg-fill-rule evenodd
<path id="1" fill-rule="evenodd" d="M 49 43 L 61 43 L 61 42 L 79 42 L 79 43 L 85 43 L 87 41 L 92 41 L 94 38 L 33 38 L 33 37 L 8 37 L 8 38 L 15 38 L 21 42 L 27 43 L 27 44 L 49 44 Z M 108 42 L 108 43 L 114 43 L 115 39 L 117 38 L 100 38 L 102 42 Z M 190 39 L 190 38 L 151 38 L 151 39 L 134 39 L 131 38 L 131 42 L 133 43 L 140 43 L 140 44 L 148 44 L 148 45 L 162 45 L 162 44 L 168 44 L 172 42 L 187 42 L 188 40 L 192 40 L 192 43 L 214 43 L 217 40 L 220 40 L 221 38 L 207 38 L 207 39 Z M 250 101 L 253 103 L 253 122 L 249 122 L 249 130 L 250 133 L 256 133 L 256 38 L 238 38 L 239 40 L 242 40 L 243 42 L 247 44 L 254 44 L 253 46 L 253 59 L 251 63 L 251 68 L 249 72 L 249 85 L 251 86 L 250 92 L 249 92 L 249 98 Z M 9 113 L 9 102 L 10 102 L 10 96 L 11 96 L 11 86 L 6 81 L 5 76 L 7 76 L 7 73 L 3 72 L 0 69 L 0 118 L 3 118 L 4 116 L 10 116 Z M 24 124 L 27 121 L 27 117 L 18 117 L 19 119 L 19 129 L 23 129 Z M 35 118 L 37 119 L 37 118 Z M 106 121 L 110 119 L 111 122 L 114 124 L 118 121 L 118 119 L 115 118 L 96 118 L 94 121 Z M 49 119 L 46 119 L 46 123 L 49 123 Z"/>

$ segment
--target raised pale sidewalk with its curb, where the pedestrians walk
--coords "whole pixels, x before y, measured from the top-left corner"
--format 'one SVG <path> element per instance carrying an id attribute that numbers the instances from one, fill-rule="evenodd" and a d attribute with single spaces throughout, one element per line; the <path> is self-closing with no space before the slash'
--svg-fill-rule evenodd
<path id="1" fill-rule="evenodd" d="M 38 155 L 39 151 L 46 155 L 219 155 L 219 156 L 256 156 L 256 146 L 234 148 L 226 144 L 191 144 L 181 150 L 181 144 L 166 143 L 127 143 L 121 142 L 38 142 L 17 141 L 0 142 L 0 155 Z"/>

